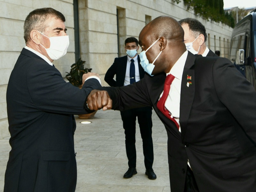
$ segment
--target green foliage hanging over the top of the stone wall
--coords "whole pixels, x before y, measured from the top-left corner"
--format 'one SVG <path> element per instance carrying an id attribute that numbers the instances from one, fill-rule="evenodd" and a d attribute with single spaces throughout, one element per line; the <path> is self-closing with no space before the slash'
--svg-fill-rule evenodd
<path id="1" fill-rule="evenodd" d="M 172 0 L 179 4 L 181 0 Z M 224 12 L 223 0 L 183 0 L 187 10 L 194 10 L 195 14 L 206 20 L 222 22 L 232 28 L 235 26 L 232 14 Z"/>

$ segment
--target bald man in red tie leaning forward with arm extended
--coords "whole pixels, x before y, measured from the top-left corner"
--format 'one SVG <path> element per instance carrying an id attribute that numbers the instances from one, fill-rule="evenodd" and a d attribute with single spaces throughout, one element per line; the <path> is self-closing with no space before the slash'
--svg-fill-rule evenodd
<path id="1" fill-rule="evenodd" d="M 140 60 L 155 63 L 154 76 L 93 90 L 88 107 L 154 108 L 168 135 L 172 192 L 256 191 L 256 92 L 228 59 L 186 51 L 183 36 L 172 17 L 149 22 Z"/>

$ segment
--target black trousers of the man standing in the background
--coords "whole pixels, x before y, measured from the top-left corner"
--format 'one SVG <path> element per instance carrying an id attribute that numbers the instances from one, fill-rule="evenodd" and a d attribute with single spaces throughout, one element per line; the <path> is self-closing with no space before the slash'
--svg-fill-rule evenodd
<path id="1" fill-rule="evenodd" d="M 136 167 L 135 130 L 136 117 L 140 126 L 140 135 L 143 142 L 144 164 L 146 169 L 152 169 L 154 161 L 152 141 L 152 108 L 143 107 L 120 111 L 125 134 L 125 148 L 128 166 Z"/>

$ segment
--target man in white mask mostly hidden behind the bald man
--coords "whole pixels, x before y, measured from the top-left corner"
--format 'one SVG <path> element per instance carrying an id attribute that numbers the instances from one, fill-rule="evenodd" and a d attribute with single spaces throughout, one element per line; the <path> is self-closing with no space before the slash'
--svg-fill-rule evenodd
<path id="1" fill-rule="evenodd" d="M 206 46 L 207 33 L 204 25 L 196 19 L 185 18 L 179 21 L 184 30 L 184 43 L 188 51 L 203 57 L 218 57 Z"/>

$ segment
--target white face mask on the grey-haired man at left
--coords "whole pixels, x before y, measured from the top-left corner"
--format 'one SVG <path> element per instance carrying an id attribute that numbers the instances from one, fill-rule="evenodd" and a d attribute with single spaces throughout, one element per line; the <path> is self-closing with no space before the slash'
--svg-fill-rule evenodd
<path id="1" fill-rule="evenodd" d="M 41 33 L 40 31 L 38 31 Z M 44 35 L 43 33 L 41 33 Z M 46 36 L 46 35 L 44 35 Z M 47 37 L 47 36 L 46 36 Z M 57 60 L 63 57 L 67 53 L 68 45 L 69 45 L 69 38 L 67 36 L 54 36 L 48 37 L 50 39 L 50 47 L 45 48 L 42 44 L 44 49 L 46 50 L 47 54 L 52 60 Z"/>

